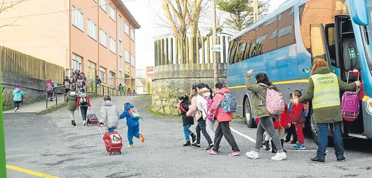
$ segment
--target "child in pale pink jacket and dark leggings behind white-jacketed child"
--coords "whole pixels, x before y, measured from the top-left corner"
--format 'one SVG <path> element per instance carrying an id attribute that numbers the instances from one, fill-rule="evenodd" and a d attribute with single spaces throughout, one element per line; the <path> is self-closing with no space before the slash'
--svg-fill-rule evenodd
<path id="1" fill-rule="evenodd" d="M 186 116 L 194 116 L 194 118 L 197 121 L 196 125 L 196 142 L 192 143 L 191 145 L 195 148 L 200 148 L 200 131 L 204 135 L 205 139 L 208 142 L 208 148 L 210 149 L 213 147 L 213 141 L 210 138 L 206 126 L 205 126 L 205 120 L 203 118 L 203 115 L 201 112 L 197 109 L 197 85 L 192 85 L 190 87 L 190 98 L 191 98 L 191 105 L 188 106 L 188 111 L 186 113 Z M 207 149 L 207 150 L 209 150 Z"/>

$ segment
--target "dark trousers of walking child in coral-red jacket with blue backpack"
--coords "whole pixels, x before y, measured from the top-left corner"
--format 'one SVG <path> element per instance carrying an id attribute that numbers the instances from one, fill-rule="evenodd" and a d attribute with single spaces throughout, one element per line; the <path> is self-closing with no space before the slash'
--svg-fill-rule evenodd
<path id="1" fill-rule="evenodd" d="M 225 139 L 232 147 L 233 151 L 240 151 L 237 142 L 233 134 L 231 134 L 230 123 L 229 122 L 219 122 L 216 128 L 216 136 L 214 138 L 214 147 L 213 151 L 218 151 L 222 136 L 225 136 Z"/>

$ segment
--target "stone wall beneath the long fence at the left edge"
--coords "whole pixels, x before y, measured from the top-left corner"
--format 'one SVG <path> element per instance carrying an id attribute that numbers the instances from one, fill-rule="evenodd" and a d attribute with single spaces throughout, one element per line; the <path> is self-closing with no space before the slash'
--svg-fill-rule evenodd
<path id="1" fill-rule="evenodd" d="M 1 71 L 1 94 L 2 94 L 2 108 L 4 110 L 13 108 L 13 90 L 16 84 L 19 84 L 22 89 L 25 99 L 24 104 L 31 104 L 40 100 L 45 100 L 46 81 L 25 77 L 21 75 L 14 75 L 11 73 Z M 58 93 L 64 93 L 64 88 L 59 88 Z"/>

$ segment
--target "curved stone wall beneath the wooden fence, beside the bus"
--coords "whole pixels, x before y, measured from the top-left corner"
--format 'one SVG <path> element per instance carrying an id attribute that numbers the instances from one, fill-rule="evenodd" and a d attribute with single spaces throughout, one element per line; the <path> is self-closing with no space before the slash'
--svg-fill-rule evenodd
<path id="1" fill-rule="evenodd" d="M 220 82 L 226 82 L 226 63 L 218 67 Z M 166 115 L 178 115 L 178 97 L 190 93 L 193 84 L 213 87 L 213 64 L 169 64 L 154 67 L 152 76 L 152 110 Z"/>

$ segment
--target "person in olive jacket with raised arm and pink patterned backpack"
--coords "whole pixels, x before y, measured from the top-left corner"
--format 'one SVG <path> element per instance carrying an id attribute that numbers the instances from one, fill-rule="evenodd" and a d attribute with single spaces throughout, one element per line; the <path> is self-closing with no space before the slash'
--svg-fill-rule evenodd
<path id="1" fill-rule="evenodd" d="M 276 92 L 275 86 L 270 82 L 269 77 L 265 73 L 258 73 L 254 76 L 255 84 L 251 83 L 253 70 L 247 72 L 247 89 L 252 91 L 252 106 L 254 115 L 259 118 L 256 133 L 256 144 L 254 150 L 247 152 L 246 155 L 251 159 L 258 159 L 258 151 L 262 144 L 262 134 L 266 131 L 273 139 L 273 143 L 277 148 L 278 153 L 271 160 L 284 160 L 286 153 L 280 143 L 279 135 L 275 133 L 273 119 L 277 119 L 278 115 L 285 110 L 284 101 Z"/>

